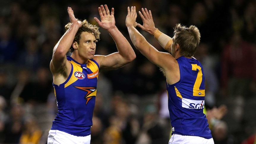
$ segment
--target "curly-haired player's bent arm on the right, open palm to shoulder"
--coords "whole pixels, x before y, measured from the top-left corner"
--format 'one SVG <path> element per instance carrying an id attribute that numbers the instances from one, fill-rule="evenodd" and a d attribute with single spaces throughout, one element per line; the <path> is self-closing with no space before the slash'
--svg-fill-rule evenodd
<path id="1" fill-rule="evenodd" d="M 128 64 L 136 58 L 135 52 L 128 40 L 116 27 L 116 21 L 114 18 L 114 8 L 111 9 L 111 13 L 108 6 L 105 4 L 99 8 L 100 19 L 94 18 L 100 27 L 106 29 L 113 40 L 116 42 L 118 52 L 112 53 L 108 56 L 96 56 L 95 60 L 99 62 L 101 69 L 116 69 Z"/>

